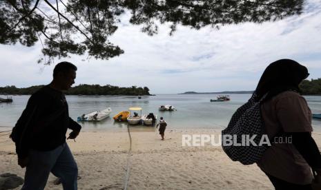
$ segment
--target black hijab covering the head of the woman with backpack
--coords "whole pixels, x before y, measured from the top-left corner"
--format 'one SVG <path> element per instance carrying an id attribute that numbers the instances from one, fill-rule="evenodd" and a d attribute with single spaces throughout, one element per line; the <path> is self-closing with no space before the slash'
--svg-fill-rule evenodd
<path id="1" fill-rule="evenodd" d="M 291 59 L 280 59 L 264 70 L 255 89 L 257 100 L 267 93 L 265 101 L 285 91 L 300 92 L 299 84 L 309 76 L 307 67 Z"/>

